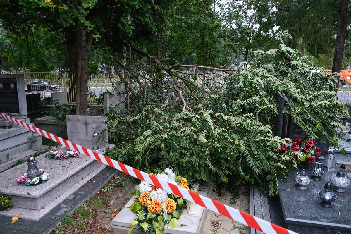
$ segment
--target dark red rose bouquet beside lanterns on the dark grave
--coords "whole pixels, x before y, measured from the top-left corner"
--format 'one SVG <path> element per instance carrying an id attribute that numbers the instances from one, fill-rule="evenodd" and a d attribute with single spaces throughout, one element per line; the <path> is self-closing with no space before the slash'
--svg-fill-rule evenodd
<path id="1" fill-rule="evenodd" d="M 280 146 L 280 153 L 290 153 L 295 156 L 296 162 L 314 162 L 322 151 L 316 146 L 316 141 L 306 139 L 303 141 L 301 136 L 298 136 L 293 142 L 290 139 L 285 140 L 286 144 Z"/>

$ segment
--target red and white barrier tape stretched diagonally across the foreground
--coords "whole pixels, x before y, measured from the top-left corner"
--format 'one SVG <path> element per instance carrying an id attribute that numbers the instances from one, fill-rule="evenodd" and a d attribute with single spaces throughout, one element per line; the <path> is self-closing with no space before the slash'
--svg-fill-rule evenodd
<path id="1" fill-rule="evenodd" d="M 99 154 L 95 151 L 91 151 L 90 149 L 87 149 L 83 146 L 77 145 L 71 141 L 67 141 L 65 139 L 62 139 L 54 134 L 48 133 L 40 128 L 34 127 L 28 123 L 22 122 L 18 119 L 15 119 L 11 116 L 8 116 L 4 113 L 0 112 L 0 116 L 2 118 L 5 118 L 7 120 L 12 121 L 13 123 L 24 127 L 32 132 L 35 132 L 39 135 L 42 135 L 50 140 L 53 140 L 61 145 L 64 145 L 66 147 L 69 147 L 71 149 L 74 149 L 75 151 L 78 151 L 81 154 L 84 154 L 88 157 L 91 157 L 93 159 L 98 160 L 99 162 L 102 162 L 110 167 L 113 167 L 121 172 L 124 172 L 128 175 L 131 175 L 135 178 L 138 178 L 139 180 L 146 181 L 158 188 L 162 188 L 166 190 L 168 193 L 173 193 L 177 196 L 180 196 L 188 201 L 194 202 L 202 207 L 205 207 L 209 210 L 212 210 L 213 212 L 219 213 L 221 215 L 224 215 L 234 221 L 237 221 L 239 223 L 242 223 L 244 225 L 247 225 L 249 227 L 252 227 L 256 230 L 259 230 L 261 232 L 264 232 L 266 234 L 297 234 L 296 232 L 293 232 L 291 230 L 288 230 L 286 228 L 280 227 L 278 225 L 275 225 L 274 223 L 267 222 L 263 219 L 257 218 L 255 216 L 252 216 L 250 214 L 247 214 L 245 212 L 242 212 L 238 209 L 234 209 L 233 207 L 224 205 L 223 203 L 220 203 L 218 201 L 206 198 L 205 196 L 199 195 L 197 193 L 191 192 L 185 188 L 181 188 L 177 185 L 173 185 L 172 183 L 166 182 L 164 180 L 160 180 L 159 178 L 149 175 L 148 173 L 139 171 L 138 169 L 135 169 L 133 167 L 130 167 L 128 165 L 125 165 L 121 162 L 118 162 L 116 160 L 110 159 L 102 154 Z"/>

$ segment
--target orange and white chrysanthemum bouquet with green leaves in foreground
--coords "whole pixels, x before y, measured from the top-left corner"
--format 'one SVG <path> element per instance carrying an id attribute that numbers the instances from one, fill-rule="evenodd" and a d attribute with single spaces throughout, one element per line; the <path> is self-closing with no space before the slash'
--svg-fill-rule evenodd
<path id="1" fill-rule="evenodd" d="M 190 190 L 188 181 L 181 176 L 176 176 L 170 168 L 165 168 L 162 173 L 150 173 L 150 175 Z M 141 182 L 132 194 L 138 196 L 138 199 L 130 208 L 136 214 L 136 219 L 131 223 L 128 234 L 132 232 L 135 225 L 138 225 L 142 232 L 156 234 L 162 234 L 167 223 L 174 229 L 177 227 L 177 219 L 180 218 L 182 210 L 186 209 L 188 204 L 187 200 L 174 194 L 167 194 L 165 190 L 145 181 Z"/>

